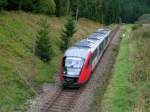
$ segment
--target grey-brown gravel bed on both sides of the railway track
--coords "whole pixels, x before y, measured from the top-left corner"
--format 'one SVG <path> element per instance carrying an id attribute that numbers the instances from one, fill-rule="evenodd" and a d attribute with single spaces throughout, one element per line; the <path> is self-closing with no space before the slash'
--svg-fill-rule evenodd
<path id="1" fill-rule="evenodd" d="M 91 104 L 93 101 L 94 90 L 101 82 L 103 73 L 106 70 L 106 68 L 109 64 L 109 61 L 112 57 L 112 52 L 113 52 L 114 46 L 119 44 L 120 33 L 121 33 L 121 30 L 119 30 L 116 33 L 116 35 L 110 42 L 110 45 L 108 46 L 102 59 L 100 60 L 99 64 L 97 65 L 95 72 L 92 74 L 91 79 L 86 84 L 86 86 L 83 88 L 82 92 L 76 99 L 74 105 L 72 106 L 72 109 L 69 110 L 69 112 L 91 112 L 90 109 L 91 109 Z M 43 88 L 45 91 L 43 94 L 39 95 L 35 100 L 29 101 L 29 103 L 31 103 L 31 107 L 27 112 L 42 112 L 41 108 L 43 108 L 47 102 L 52 101 L 53 96 L 60 89 L 60 86 L 59 86 L 59 84 L 56 86 L 55 85 L 45 85 Z"/>

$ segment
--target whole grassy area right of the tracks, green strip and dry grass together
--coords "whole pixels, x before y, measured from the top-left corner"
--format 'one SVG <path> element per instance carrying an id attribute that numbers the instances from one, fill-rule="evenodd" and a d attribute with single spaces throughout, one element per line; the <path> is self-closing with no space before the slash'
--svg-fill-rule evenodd
<path id="1" fill-rule="evenodd" d="M 102 101 L 95 112 L 150 111 L 150 25 L 125 25 L 124 29 L 113 77 L 104 97 L 98 97 Z"/>

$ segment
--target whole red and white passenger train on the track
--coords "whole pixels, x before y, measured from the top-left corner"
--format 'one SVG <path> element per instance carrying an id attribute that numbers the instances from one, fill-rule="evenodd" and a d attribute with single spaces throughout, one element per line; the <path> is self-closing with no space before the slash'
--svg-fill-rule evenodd
<path id="1" fill-rule="evenodd" d="M 110 29 L 98 29 L 66 50 L 60 66 L 63 86 L 79 86 L 88 81 L 111 40 L 110 33 Z"/>

